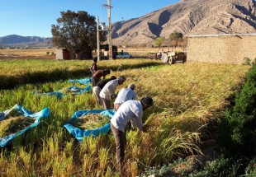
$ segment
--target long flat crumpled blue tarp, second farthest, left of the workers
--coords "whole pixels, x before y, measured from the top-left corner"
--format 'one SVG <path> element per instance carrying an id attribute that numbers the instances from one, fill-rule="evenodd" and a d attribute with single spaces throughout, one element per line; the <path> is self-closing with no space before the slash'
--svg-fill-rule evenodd
<path id="1" fill-rule="evenodd" d="M 69 93 L 62 93 L 61 91 L 69 91 Z M 38 95 L 55 95 L 58 99 L 62 99 L 64 95 L 79 95 L 84 92 L 91 91 L 91 86 L 86 86 L 85 88 L 79 88 L 76 86 L 69 86 L 68 88 L 60 89 L 58 91 L 48 92 L 48 93 L 40 93 L 38 91 L 33 91 L 33 94 Z"/>

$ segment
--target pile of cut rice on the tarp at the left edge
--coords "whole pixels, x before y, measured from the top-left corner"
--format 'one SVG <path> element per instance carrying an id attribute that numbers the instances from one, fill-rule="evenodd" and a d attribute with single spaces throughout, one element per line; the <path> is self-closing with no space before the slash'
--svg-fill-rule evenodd
<path id="1" fill-rule="evenodd" d="M 9 117 L 0 122 L 0 137 L 6 137 L 9 134 L 18 133 L 22 129 L 34 123 L 34 119 L 30 117 L 18 116 Z"/>

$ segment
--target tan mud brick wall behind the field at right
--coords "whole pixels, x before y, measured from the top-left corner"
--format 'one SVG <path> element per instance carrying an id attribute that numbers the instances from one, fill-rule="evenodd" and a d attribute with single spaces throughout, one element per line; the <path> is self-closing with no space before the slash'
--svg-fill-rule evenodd
<path id="1" fill-rule="evenodd" d="M 256 58 L 256 34 L 190 35 L 187 62 L 244 63 Z"/>

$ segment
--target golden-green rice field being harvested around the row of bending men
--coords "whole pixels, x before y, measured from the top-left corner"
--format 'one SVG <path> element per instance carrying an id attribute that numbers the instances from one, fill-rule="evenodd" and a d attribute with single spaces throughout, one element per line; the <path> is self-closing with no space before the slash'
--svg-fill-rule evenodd
<path id="1" fill-rule="evenodd" d="M 118 62 L 123 66 L 132 64 L 133 60 Z M 106 63 L 106 66 L 108 64 L 115 65 Z M 147 132 L 126 134 L 126 175 L 140 175 L 149 166 L 163 165 L 179 156 L 200 154 L 204 128 L 221 117 L 230 104 L 230 96 L 239 91 L 248 71 L 248 66 L 220 63 L 113 71 L 111 75 L 127 78 L 117 91 L 135 83 L 139 99 L 145 95 L 154 99 L 154 106 L 144 113 Z M 1 176 L 118 176 L 111 133 L 78 142 L 63 127 L 78 110 L 102 109 L 96 105 L 92 93 L 67 95 L 62 100 L 32 94 L 35 90 L 56 91 L 69 86 L 73 84 L 62 80 L 0 91 L 0 110 L 19 104 L 33 112 L 44 107 L 51 111 L 50 118 L 42 119 L 39 126 L 1 149 Z"/>

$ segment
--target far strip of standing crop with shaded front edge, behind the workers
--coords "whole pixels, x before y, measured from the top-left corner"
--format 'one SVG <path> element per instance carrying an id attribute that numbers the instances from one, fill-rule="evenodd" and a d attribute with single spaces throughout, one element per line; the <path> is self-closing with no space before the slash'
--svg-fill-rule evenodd
<path id="1" fill-rule="evenodd" d="M 158 60 L 129 59 L 100 61 L 99 69 L 112 71 L 162 65 Z M 28 83 L 56 82 L 69 78 L 90 77 L 90 60 L 0 60 L 0 89 L 10 89 Z"/>

